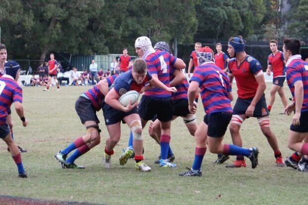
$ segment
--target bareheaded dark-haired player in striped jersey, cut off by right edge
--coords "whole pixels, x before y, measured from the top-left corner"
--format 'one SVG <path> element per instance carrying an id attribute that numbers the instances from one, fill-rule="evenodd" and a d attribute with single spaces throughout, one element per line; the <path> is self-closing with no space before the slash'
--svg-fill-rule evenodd
<path id="1" fill-rule="evenodd" d="M 308 172 L 308 63 L 302 60 L 300 53 L 300 40 L 295 38 L 284 40 L 283 54 L 287 61 L 287 82 L 294 98 L 294 102 L 285 108 L 285 113 L 290 115 L 295 110 L 290 126 L 288 147 L 303 154 L 302 160 L 298 163 L 298 169 Z M 293 156 L 296 155 L 299 156 L 299 154 L 293 154 Z M 286 163 L 290 161 L 288 159 Z"/>

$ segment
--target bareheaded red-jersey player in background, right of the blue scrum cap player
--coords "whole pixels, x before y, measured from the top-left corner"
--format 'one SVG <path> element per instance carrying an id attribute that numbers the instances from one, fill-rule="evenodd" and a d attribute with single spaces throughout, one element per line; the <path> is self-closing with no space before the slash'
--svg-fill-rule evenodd
<path id="1" fill-rule="evenodd" d="M 273 72 L 274 78 L 273 85 L 270 90 L 270 102 L 267 105 L 269 112 L 274 104 L 276 92 L 278 92 L 284 108 L 288 105 L 287 98 L 283 90 L 283 83 L 286 79 L 285 59 L 283 57 L 283 53 L 278 50 L 278 42 L 276 40 L 270 41 L 270 49 L 272 53 L 267 57 L 266 73 L 267 75 L 271 75 L 271 72 Z"/>

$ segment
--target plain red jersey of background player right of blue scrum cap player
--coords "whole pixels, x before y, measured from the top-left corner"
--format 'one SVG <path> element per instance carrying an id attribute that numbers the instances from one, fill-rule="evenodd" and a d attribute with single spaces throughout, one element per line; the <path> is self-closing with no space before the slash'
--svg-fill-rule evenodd
<path id="1" fill-rule="evenodd" d="M 267 57 L 267 65 L 272 66 L 274 77 L 286 76 L 286 67 L 285 63 L 283 62 L 284 60 L 285 59 L 281 51 L 278 51 L 275 55 L 272 53 Z"/>

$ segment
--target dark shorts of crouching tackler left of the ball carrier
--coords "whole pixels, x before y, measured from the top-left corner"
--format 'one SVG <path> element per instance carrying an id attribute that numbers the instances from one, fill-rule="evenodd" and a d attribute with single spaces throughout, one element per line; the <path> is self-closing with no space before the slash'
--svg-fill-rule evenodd
<path id="1" fill-rule="evenodd" d="M 75 103 L 75 109 L 82 124 L 84 124 L 86 121 L 95 121 L 97 124 L 99 123 L 99 120 L 96 116 L 96 110 L 91 100 L 79 96 Z"/>

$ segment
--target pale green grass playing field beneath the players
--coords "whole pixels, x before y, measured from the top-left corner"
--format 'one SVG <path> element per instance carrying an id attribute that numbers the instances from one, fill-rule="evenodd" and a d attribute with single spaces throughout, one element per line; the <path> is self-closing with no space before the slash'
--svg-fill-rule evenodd
<path id="1" fill-rule="evenodd" d="M 235 87 L 235 85 L 233 85 Z M 267 84 L 266 96 L 269 97 Z M 241 128 L 243 146 L 257 146 L 260 150 L 259 165 L 227 169 L 225 164 L 212 161 L 216 155 L 207 152 L 202 165 L 202 177 L 179 177 L 185 167 L 191 167 L 195 143 L 182 119 L 172 122 L 171 146 L 177 168 L 164 169 L 154 164 L 159 146 L 144 130 L 145 162 L 152 167 L 150 173 L 134 169 L 130 160 L 121 167 L 118 158 L 127 145 L 129 129 L 122 125 L 122 138 L 115 148 L 112 168 L 106 170 L 102 164 L 105 139 L 108 136 L 102 111 L 98 113 L 102 129 L 101 144 L 93 148 L 76 163 L 84 170 L 67 170 L 53 159 L 53 155 L 83 135 L 85 129 L 75 112 L 78 95 L 90 87 L 62 87 L 57 92 L 52 87 L 43 92 L 42 87 L 24 87 L 24 110 L 29 120 L 23 128 L 13 111 L 15 140 L 28 149 L 22 154 L 28 179 L 17 177 L 17 168 L 0 143 L 0 195 L 29 197 L 59 201 L 77 201 L 97 204 L 303 204 L 307 205 L 308 174 L 291 168 L 276 167 L 273 151 L 262 135 L 256 119 L 248 119 Z M 235 90 L 233 92 L 235 94 Z M 287 96 L 289 89 L 285 86 Z M 236 97 L 236 95 L 235 95 Z M 233 102 L 234 103 L 234 102 Z M 13 110 L 13 109 L 12 109 Z M 283 156 L 290 156 L 287 138 L 291 116 L 279 115 L 283 106 L 277 94 L 270 115 L 273 132 L 279 140 Z M 197 122 L 202 121 L 204 111 L 199 103 Z M 231 142 L 227 131 L 225 142 Z M 231 157 L 233 160 L 234 157 Z M 231 160 L 227 161 L 231 163 Z"/>

